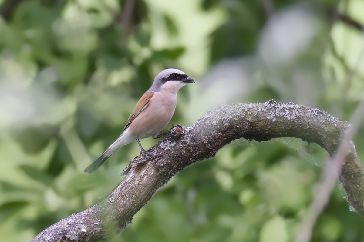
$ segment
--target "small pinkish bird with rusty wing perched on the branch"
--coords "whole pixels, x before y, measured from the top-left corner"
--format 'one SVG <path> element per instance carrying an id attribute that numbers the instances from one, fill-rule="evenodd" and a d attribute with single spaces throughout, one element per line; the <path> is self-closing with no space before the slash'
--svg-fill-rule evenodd
<path id="1" fill-rule="evenodd" d="M 151 87 L 139 99 L 132 110 L 120 136 L 84 172 L 94 172 L 108 160 L 120 147 L 137 140 L 141 154 L 146 153 L 139 139 L 152 136 L 157 139 L 164 134 L 158 133 L 169 123 L 177 105 L 177 92 L 187 83 L 195 82 L 178 69 L 165 69 L 153 81 Z"/>

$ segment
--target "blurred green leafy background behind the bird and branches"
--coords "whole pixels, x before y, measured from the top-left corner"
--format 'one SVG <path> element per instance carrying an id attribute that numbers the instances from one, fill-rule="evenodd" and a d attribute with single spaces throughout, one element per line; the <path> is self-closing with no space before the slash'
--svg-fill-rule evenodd
<path id="1" fill-rule="evenodd" d="M 351 120 L 363 12 L 362 0 L 0 0 L 2 240 L 30 241 L 118 185 L 137 142 L 83 169 L 165 68 L 196 81 L 170 125 L 269 98 Z M 354 142 L 364 159 L 363 122 Z M 293 241 L 326 158 L 297 138 L 234 141 L 174 176 L 110 241 Z M 312 241 L 364 241 L 344 197 L 336 185 Z"/>

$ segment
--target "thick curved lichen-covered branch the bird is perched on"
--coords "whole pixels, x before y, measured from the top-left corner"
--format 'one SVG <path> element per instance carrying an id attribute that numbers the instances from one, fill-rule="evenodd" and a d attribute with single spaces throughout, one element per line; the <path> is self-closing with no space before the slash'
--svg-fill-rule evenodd
<path id="1" fill-rule="evenodd" d="M 244 137 L 267 141 L 298 137 L 314 142 L 335 156 L 340 138 L 351 126 L 328 112 L 293 103 L 233 104 L 221 106 L 200 118 L 178 138 L 168 137 L 153 146 L 157 158 L 134 158 L 124 180 L 104 201 L 62 219 L 33 241 L 98 241 L 119 233 L 131 222 L 155 191 L 196 161 L 210 158 L 232 140 Z M 146 162 L 147 161 L 147 162 Z M 340 181 L 349 203 L 364 218 L 364 170 L 354 146 L 345 156 Z"/>

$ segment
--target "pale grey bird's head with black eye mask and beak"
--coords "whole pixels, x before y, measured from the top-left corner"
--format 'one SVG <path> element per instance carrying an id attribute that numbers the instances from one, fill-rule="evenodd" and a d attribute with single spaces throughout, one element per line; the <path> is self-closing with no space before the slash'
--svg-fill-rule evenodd
<path id="1" fill-rule="evenodd" d="M 191 77 L 178 69 L 165 69 L 155 78 L 150 90 L 177 93 L 187 83 L 195 82 Z"/>

